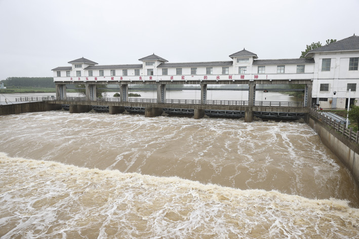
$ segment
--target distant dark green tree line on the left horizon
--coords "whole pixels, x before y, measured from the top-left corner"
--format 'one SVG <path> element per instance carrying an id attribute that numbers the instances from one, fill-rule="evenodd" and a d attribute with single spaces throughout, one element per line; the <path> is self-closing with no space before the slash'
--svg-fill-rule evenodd
<path id="1" fill-rule="evenodd" d="M 8 77 L 1 82 L 5 87 L 55 88 L 53 77 Z"/>

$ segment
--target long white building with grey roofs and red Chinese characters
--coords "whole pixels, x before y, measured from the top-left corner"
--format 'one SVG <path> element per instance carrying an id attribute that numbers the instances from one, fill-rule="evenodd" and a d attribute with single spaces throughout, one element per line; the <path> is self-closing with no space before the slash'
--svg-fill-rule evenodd
<path id="1" fill-rule="evenodd" d="M 150 55 L 139 59 L 142 64 L 98 65 L 85 58 L 68 62 L 71 66 L 57 67 L 54 82 L 109 82 L 109 81 L 241 81 L 268 79 L 271 81 L 310 79 L 312 103 L 323 108 L 345 108 L 358 100 L 356 83 L 359 81 L 359 36 L 353 35 L 314 49 L 309 58 L 261 60 L 245 49 L 229 56 L 231 61 L 168 63 L 164 58 Z"/>

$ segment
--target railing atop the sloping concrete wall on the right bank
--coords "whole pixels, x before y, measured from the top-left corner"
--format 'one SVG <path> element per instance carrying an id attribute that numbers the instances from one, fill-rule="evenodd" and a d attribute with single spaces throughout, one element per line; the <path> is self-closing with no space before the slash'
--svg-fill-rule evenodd
<path id="1" fill-rule="evenodd" d="M 355 143 L 358 143 L 359 141 L 359 131 L 353 132 L 353 128 L 347 129 L 345 125 L 340 124 L 340 122 L 334 121 L 333 118 L 318 112 L 315 109 L 310 109 L 309 111 L 310 115 L 312 115 L 314 118 L 318 119 L 318 121 L 321 121 L 322 123 L 332 127 L 342 135 L 348 137 L 350 140 L 354 141 Z"/>

